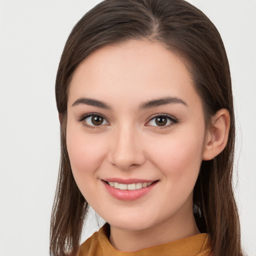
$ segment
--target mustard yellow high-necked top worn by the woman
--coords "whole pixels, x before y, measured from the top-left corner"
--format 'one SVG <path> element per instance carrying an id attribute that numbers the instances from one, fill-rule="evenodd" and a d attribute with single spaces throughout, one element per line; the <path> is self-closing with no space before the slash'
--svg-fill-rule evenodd
<path id="1" fill-rule="evenodd" d="M 78 256 L 209 256 L 210 244 L 206 233 L 147 247 L 138 251 L 116 250 L 109 242 L 106 224 L 80 245 Z"/>

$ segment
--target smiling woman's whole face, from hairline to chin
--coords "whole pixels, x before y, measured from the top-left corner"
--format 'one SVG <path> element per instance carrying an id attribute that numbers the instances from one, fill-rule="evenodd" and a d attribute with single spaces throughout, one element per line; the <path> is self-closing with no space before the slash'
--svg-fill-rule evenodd
<path id="1" fill-rule="evenodd" d="M 190 74 L 161 43 L 107 45 L 76 68 L 68 155 L 81 193 L 110 225 L 140 230 L 186 221 L 204 137 Z"/>

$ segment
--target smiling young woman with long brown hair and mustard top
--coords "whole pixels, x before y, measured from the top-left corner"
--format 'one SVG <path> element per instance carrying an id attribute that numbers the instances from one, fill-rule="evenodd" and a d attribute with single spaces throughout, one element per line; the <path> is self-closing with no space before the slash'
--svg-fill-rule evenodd
<path id="1" fill-rule="evenodd" d="M 183 0 L 105 0 L 56 77 L 51 255 L 241 255 L 228 61 Z M 106 224 L 79 246 L 88 205 Z"/>

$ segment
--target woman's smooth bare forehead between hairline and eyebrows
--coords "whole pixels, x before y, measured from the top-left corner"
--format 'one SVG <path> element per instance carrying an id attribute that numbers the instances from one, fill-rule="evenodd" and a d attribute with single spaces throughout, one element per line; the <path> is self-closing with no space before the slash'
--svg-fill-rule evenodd
<path id="1" fill-rule="evenodd" d="M 130 40 L 103 46 L 78 65 L 68 104 L 79 97 L 111 102 L 130 97 L 135 102 L 164 96 L 199 99 L 180 57 L 160 42 Z"/>

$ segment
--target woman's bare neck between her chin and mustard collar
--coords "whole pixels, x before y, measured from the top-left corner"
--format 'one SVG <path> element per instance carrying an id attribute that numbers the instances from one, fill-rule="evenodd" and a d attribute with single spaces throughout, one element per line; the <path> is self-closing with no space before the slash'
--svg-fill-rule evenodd
<path id="1" fill-rule="evenodd" d="M 110 225 L 109 241 L 119 251 L 137 251 L 200 233 L 191 210 L 176 212 L 153 226 L 142 230 L 126 230 Z"/>

